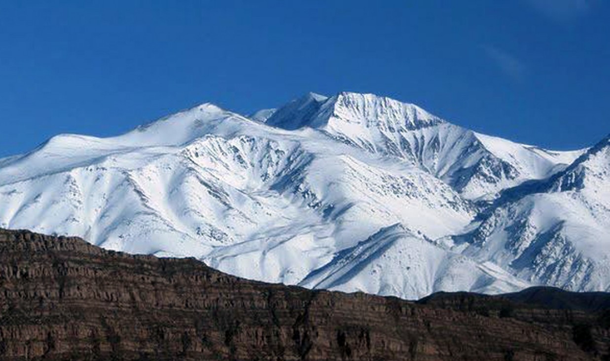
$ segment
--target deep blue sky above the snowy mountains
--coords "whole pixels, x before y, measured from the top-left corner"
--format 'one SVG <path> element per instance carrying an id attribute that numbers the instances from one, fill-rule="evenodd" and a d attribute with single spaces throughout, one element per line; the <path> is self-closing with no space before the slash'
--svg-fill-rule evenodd
<path id="1" fill-rule="evenodd" d="M 0 0 L 0 156 L 201 102 L 250 113 L 343 90 L 580 148 L 610 132 L 609 5 Z"/>

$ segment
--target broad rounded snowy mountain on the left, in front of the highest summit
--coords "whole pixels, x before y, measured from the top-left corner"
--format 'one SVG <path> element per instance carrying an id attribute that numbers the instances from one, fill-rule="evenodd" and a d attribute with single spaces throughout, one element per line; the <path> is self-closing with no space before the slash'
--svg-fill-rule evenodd
<path id="1" fill-rule="evenodd" d="M 475 214 L 451 187 L 400 159 L 208 104 L 119 137 L 52 138 L 5 163 L 0 202 L 3 227 L 195 256 L 288 284 L 381 227 L 404 223 L 436 238 Z"/>

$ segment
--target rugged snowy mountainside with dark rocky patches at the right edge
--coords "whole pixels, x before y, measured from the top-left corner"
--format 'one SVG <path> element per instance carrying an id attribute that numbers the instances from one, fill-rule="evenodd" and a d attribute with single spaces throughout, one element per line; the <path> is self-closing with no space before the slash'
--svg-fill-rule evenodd
<path id="1" fill-rule="evenodd" d="M 533 284 L 610 289 L 610 144 L 545 180 L 507 191 L 456 248 Z"/>

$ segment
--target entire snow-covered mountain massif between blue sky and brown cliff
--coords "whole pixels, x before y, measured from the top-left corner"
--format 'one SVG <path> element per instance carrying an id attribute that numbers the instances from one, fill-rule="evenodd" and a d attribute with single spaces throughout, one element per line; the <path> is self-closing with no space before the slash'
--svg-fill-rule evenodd
<path id="1" fill-rule="evenodd" d="M 203 104 L 0 159 L 0 227 L 403 298 L 606 290 L 607 143 L 547 151 L 369 94 Z"/>

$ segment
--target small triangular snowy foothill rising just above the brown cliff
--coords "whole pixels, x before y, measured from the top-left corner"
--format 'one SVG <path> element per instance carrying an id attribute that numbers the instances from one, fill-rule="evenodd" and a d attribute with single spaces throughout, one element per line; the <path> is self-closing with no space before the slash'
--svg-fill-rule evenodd
<path id="1" fill-rule="evenodd" d="M 382 296 L 429 295 L 435 290 L 502 293 L 528 287 L 498 268 L 439 248 L 400 224 L 343 250 L 300 285 Z"/>

